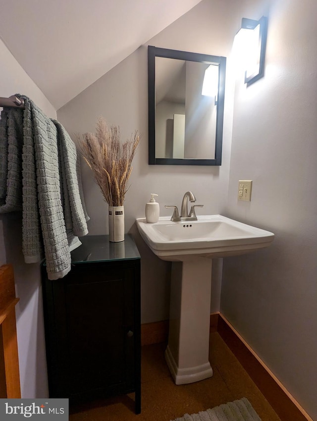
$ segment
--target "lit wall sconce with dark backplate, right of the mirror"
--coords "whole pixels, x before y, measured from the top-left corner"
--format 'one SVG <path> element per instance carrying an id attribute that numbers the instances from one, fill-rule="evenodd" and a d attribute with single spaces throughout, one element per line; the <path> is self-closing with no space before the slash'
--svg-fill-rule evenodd
<path id="1" fill-rule="evenodd" d="M 244 83 L 247 86 L 264 76 L 264 57 L 267 35 L 267 17 L 260 20 L 242 18 L 236 37 L 245 59 Z"/>

